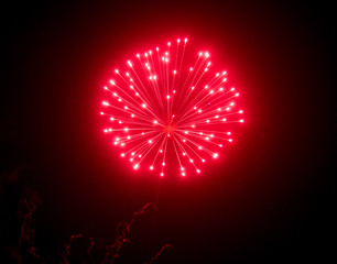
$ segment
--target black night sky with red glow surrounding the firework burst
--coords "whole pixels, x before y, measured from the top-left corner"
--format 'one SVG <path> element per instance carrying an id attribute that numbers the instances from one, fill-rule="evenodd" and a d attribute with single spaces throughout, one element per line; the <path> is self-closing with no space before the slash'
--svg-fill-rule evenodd
<path id="1" fill-rule="evenodd" d="M 117 222 L 159 195 L 127 263 L 149 261 L 166 242 L 173 249 L 157 263 L 333 257 L 333 7 L 18 2 L 3 12 L 1 174 L 20 168 L 21 185 L 39 193 L 41 254 L 52 257 L 74 232 L 112 242 Z M 118 164 L 101 133 L 101 87 L 135 50 L 184 36 L 227 69 L 246 122 L 203 176 L 167 177 L 160 188 L 156 176 Z"/>

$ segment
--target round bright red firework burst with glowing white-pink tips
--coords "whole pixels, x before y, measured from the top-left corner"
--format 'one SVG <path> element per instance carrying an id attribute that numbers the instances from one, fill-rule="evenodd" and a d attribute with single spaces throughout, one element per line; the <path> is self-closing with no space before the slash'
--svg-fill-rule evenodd
<path id="1" fill-rule="evenodd" d="M 232 142 L 228 129 L 243 122 L 235 101 L 239 92 L 227 86 L 226 72 L 210 73 L 209 53 L 188 54 L 186 45 L 187 38 L 178 38 L 137 54 L 104 87 L 104 132 L 134 169 L 164 176 L 167 157 L 175 156 L 182 176 L 199 174 L 202 164 Z"/>

